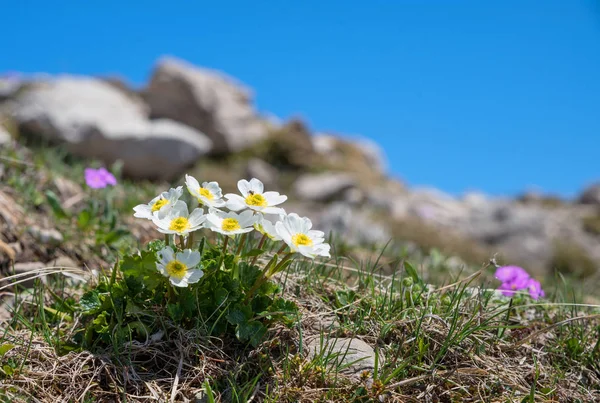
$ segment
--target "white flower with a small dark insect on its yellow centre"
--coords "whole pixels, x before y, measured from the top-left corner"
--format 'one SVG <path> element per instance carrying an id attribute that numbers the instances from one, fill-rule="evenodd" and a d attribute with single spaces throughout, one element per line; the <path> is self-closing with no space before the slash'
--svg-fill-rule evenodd
<path id="1" fill-rule="evenodd" d="M 240 195 L 228 193 L 227 208 L 233 211 L 240 211 L 246 208 L 259 211 L 265 214 L 283 214 L 285 211 L 280 207 L 274 207 L 287 200 L 287 196 L 280 195 L 278 192 L 264 192 L 264 185 L 261 181 L 253 178 L 248 182 L 242 179 L 238 182 Z"/>

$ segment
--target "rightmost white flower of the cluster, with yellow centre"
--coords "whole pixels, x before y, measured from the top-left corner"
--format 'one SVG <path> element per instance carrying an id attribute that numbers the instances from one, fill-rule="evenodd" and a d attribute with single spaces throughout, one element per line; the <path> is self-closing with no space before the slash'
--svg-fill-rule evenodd
<path id="1" fill-rule="evenodd" d="M 317 256 L 331 257 L 329 244 L 323 242 L 325 234 L 311 228 L 312 222 L 296 213 L 285 216 L 275 224 L 277 234 L 292 252 L 299 252 L 312 259 Z"/>

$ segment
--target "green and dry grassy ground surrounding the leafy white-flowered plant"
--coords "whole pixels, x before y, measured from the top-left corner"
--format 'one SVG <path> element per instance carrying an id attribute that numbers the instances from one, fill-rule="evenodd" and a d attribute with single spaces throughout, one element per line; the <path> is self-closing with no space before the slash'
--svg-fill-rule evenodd
<path id="1" fill-rule="evenodd" d="M 398 247 L 294 261 L 275 281 L 300 314 L 256 347 L 211 335 L 203 319 L 182 327 L 156 312 L 164 332 L 83 349 L 74 340 L 86 319 L 74 307 L 117 256 L 153 236 L 129 216 L 156 185 L 122 181 L 98 193 L 112 200 L 111 213 L 86 222 L 86 201 L 64 207 L 69 197 L 56 185 L 57 177 L 81 184 L 80 161 L 20 147 L 2 158 L 0 191 L 22 210 L 4 240 L 22 238 L 29 258 L 65 254 L 77 263 L 16 276 L 3 263 L 0 293 L 12 307 L 0 334 L 2 401 L 600 401 L 600 306 L 581 284 L 558 276 L 545 299 L 508 299 L 493 290 L 493 260 L 459 269 L 435 251 L 400 255 Z M 27 238 L 23 227 L 42 217 L 63 244 Z M 25 279 L 27 288 L 15 285 Z M 307 340 L 327 346 L 341 337 L 372 346 L 374 368 L 348 375 L 327 347 L 309 354 Z"/>

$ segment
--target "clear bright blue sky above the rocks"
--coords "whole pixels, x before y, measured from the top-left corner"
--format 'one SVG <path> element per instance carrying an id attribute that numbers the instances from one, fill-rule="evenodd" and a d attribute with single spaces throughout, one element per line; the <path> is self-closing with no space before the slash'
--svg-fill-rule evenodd
<path id="1" fill-rule="evenodd" d="M 261 111 L 361 134 L 409 185 L 574 195 L 600 179 L 591 0 L 7 1 L 0 72 L 118 73 L 163 54 L 253 87 Z"/>

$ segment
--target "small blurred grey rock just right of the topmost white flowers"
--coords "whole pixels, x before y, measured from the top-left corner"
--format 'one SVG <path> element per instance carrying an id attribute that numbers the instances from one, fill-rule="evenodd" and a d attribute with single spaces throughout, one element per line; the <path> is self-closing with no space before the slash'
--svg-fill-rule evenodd
<path id="1" fill-rule="evenodd" d="M 301 200 L 326 202 L 343 199 L 344 192 L 356 186 L 356 180 L 347 173 L 324 172 L 300 176 L 294 192 Z"/>

